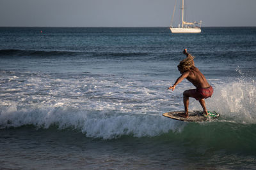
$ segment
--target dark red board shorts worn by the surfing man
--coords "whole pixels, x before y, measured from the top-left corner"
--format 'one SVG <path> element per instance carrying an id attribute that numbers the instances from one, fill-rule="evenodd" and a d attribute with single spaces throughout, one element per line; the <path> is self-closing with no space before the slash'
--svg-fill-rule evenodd
<path id="1" fill-rule="evenodd" d="M 207 87 L 207 88 L 197 88 L 191 90 L 191 97 L 194 97 L 197 101 L 199 99 L 207 99 L 208 97 L 211 97 L 213 94 L 213 88 Z"/>

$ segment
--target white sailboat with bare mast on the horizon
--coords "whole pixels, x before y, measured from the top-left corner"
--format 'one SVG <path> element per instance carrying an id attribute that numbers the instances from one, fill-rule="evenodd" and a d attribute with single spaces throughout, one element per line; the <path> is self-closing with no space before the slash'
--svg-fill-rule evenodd
<path id="1" fill-rule="evenodd" d="M 177 2 L 177 1 L 176 1 Z M 180 24 L 178 27 L 173 27 L 173 17 L 175 13 L 175 7 L 176 7 L 176 2 L 173 10 L 173 15 L 172 15 L 172 22 L 170 26 L 170 30 L 172 33 L 200 33 L 201 32 L 201 25 L 202 25 L 202 20 L 200 22 L 186 22 L 184 21 L 184 0 L 182 0 L 182 13 L 181 13 L 181 27 Z"/>

